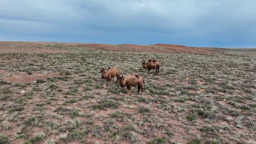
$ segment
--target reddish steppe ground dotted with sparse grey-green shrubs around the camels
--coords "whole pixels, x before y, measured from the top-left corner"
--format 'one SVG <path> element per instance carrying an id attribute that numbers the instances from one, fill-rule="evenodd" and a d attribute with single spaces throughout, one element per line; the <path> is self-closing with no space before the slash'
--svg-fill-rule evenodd
<path id="1" fill-rule="evenodd" d="M 159 75 L 140 61 L 156 58 Z M 144 78 L 132 96 L 100 77 Z M 0 144 L 255 144 L 256 49 L 0 42 Z"/>

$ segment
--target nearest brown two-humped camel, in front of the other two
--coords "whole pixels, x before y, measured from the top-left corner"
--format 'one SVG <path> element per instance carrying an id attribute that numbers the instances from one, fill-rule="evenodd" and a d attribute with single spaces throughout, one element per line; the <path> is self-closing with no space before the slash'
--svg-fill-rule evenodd
<path id="1" fill-rule="evenodd" d="M 143 84 L 145 85 L 143 78 L 139 74 L 128 74 L 125 78 L 123 74 L 120 74 L 119 83 L 121 87 L 127 87 L 127 89 L 129 90 L 129 96 L 131 96 L 131 86 L 136 87 L 138 85 L 138 92 L 141 90 L 142 95 Z"/>

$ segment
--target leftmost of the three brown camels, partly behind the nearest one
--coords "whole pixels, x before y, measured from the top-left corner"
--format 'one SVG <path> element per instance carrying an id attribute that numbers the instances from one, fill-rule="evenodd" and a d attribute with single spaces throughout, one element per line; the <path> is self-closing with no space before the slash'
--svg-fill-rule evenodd
<path id="1" fill-rule="evenodd" d="M 112 68 L 109 66 L 106 71 L 104 70 L 104 68 L 100 68 L 101 78 L 106 79 L 107 81 L 110 81 L 111 78 L 116 77 L 116 83 L 117 83 L 119 79 L 119 74 L 120 72 L 115 66 L 113 66 Z"/>

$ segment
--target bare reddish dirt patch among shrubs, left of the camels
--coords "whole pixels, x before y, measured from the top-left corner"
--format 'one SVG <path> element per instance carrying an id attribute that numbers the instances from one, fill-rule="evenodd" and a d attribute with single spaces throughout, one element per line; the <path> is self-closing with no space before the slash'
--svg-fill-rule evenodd
<path id="1" fill-rule="evenodd" d="M 42 79 L 45 80 L 48 77 L 53 76 L 60 76 L 58 72 L 51 73 L 51 74 L 43 74 L 43 75 L 37 75 L 37 76 L 22 76 L 22 77 L 8 77 L 4 80 L 11 82 L 11 83 L 19 83 L 19 84 L 27 84 L 32 83 L 34 80 Z"/>

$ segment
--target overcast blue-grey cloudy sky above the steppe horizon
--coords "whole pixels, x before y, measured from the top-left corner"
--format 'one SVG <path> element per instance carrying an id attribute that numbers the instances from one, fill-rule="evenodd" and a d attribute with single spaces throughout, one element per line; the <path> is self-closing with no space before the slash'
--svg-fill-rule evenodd
<path id="1" fill-rule="evenodd" d="M 256 0 L 0 0 L 0 41 L 256 47 Z"/>

